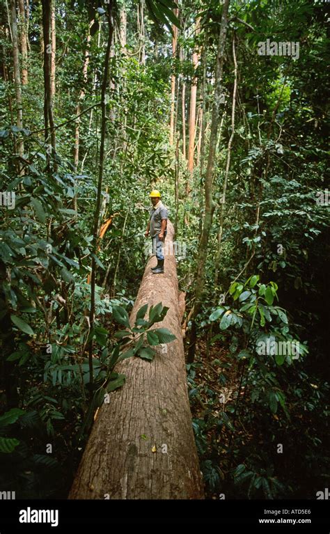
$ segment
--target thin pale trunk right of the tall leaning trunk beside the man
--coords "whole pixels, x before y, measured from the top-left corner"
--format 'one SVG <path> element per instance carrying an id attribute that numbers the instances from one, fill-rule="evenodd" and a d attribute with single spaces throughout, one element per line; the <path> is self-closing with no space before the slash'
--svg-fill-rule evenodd
<path id="1" fill-rule="evenodd" d="M 235 107 L 236 107 L 236 92 L 237 92 L 237 61 L 236 61 L 236 51 L 235 51 L 235 34 L 233 37 L 233 60 L 234 60 L 234 65 L 235 65 L 235 68 L 234 68 L 235 79 L 234 79 L 234 88 L 233 88 L 233 104 L 232 104 L 232 111 L 231 111 L 231 133 L 230 133 L 230 138 L 228 141 L 228 148 L 227 148 L 226 171 L 225 171 L 225 178 L 223 180 L 221 208 L 220 208 L 218 248 L 217 248 L 217 254 L 215 257 L 216 260 L 215 260 L 214 285 L 216 286 L 218 284 L 218 275 L 219 275 L 219 263 L 220 263 L 220 256 L 221 256 L 221 242 L 222 242 L 222 233 L 223 233 L 223 219 L 224 219 L 224 213 L 225 213 L 226 191 L 227 191 L 228 174 L 229 174 L 229 168 L 230 168 L 231 146 L 233 144 L 233 139 L 235 135 Z"/>

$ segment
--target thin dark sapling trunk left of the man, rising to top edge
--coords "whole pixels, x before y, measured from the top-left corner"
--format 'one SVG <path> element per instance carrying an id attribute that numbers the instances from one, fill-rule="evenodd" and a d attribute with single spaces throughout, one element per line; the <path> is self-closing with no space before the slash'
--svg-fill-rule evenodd
<path id="1" fill-rule="evenodd" d="M 97 198 L 95 205 L 95 212 L 93 217 L 93 256 L 92 256 L 92 272 L 91 272 L 91 308 L 89 312 L 89 324 L 91 331 L 94 326 L 94 314 L 95 314 L 95 281 L 96 281 L 96 261 L 97 254 L 97 235 L 100 223 L 100 209 L 101 209 L 101 197 L 102 197 L 102 182 L 103 182 L 103 170 L 104 170 L 104 143 L 107 125 L 107 104 L 106 93 L 109 77 L 109 61 L 110 61 L 110 49 L 113 37 L 113 1 L 107 5 L 107 17 L 108 17 L 108 38 L 107 38 L 107 50 L 104 58 L 103 79 L 101 88 L 101 139 L 100 139 L 100 159 L 99 159 L 99 177 L 97 182 Z M 93 384 L 93 339 L 89 343 L 88 347 L 88 361 L 89 361 L 89 374 L 90 382 Z"/>

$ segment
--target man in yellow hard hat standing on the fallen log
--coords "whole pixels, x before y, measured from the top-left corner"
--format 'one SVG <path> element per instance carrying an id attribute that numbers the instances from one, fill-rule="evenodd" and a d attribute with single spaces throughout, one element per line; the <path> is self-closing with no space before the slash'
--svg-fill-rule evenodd
<path id="1" fill-rule="evenodd" d="M 152 239 L 152 253 L 156 254 L 157 265 L 151 267 L 153 274 L 164 273 L 164 254 L 162 245 L 165 242 L 168 212 L 160 200 L 160 193 L 153 189 L 150 193 L 152 207 L 150 208 L 150 218 L 146 229 L 146 237 L 150 235 Z"/>

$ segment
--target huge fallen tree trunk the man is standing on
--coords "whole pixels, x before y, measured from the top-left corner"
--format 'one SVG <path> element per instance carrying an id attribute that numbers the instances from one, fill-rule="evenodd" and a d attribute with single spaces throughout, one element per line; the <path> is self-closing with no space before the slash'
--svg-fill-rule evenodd
<path id="1" fill-rule="evenodd" d="M 203 498 L 201 471 L 191 426 L 181 332 L 178 277 L 168 221 L 165 273 L 152 274 L 148 261 L 132 314 L 162 301 L 168 312 L 157 327 L 177 339 L 156 347 L 150 363 L 124 360 L 116 372 L 124 386 L 98 412 L 69 498 Z M 172 251 L 172 253 L 171 253 Z"/>

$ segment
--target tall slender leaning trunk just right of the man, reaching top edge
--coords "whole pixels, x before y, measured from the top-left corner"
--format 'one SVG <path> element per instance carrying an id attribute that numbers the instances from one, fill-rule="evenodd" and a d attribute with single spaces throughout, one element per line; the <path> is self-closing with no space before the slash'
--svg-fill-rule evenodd
<path id="1" fill-rule="evenodd" d="M 191 336 L 189 339 L 189 354 L 188 361 L 194 361 L 195 347 L 196 347 L 196 316 L 201 309 L 201 299 L 203 296 L 204 284 L 205 284 L 205 263 L 207 257 L 207 244 L 210 237 L 210 230 L 212 226 L 212 218 L 214 213 L 214 202 L 212 198 L 212 182 L 214 173 L 214 160 L 217 148 L 217 133 L 219 126 L 219 111 L 221 104 L 221 95 L 223 93 L 223 61 L 226 49 L 226 33 L 228 26 L 228 8 L 229 1 L 225 0 L 222 9 L 220 35 L 217 52 L 217 66 L 215 70 L 215 87 L 214 87 L 214 100 L 212 106 L 212 123 L 210 132 L 210 145 L 207 158 L 207 168 L 205 173 L 205 214 L 203 218 L 203 231 L 201 235 L 201 241 L 198 250 L 197 260 L 197 273 L 196 273 L 196 290 L 195 290 L 195 302 L 194 313 L 192 314 L 192 326 Z"/>

